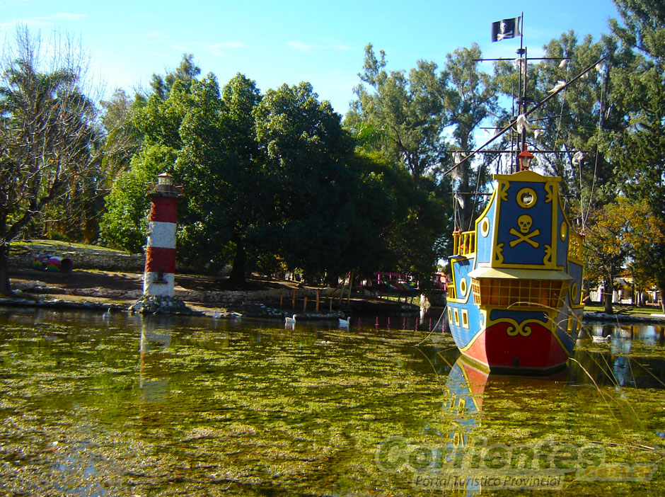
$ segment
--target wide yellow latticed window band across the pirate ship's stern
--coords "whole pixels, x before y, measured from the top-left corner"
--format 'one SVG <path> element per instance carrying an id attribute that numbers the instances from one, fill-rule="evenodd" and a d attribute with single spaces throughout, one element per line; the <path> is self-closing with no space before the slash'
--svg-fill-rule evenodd
<path id="1" fill-rule="evenodd" d="M 567 291 L 565 280 L 472 278 L 473 303 L 500 307 L 559 308 Z"/>

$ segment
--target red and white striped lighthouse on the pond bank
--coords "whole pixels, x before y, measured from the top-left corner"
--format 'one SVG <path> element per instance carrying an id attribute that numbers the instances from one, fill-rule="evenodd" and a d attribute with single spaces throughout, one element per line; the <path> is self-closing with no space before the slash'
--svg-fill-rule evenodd
<path id="1" fill-rule="evenodd" d="M 175 226 L 178 222 L 180 188 L 173 176 L 161 173 L 150 194 L 150 218 L 143 294 L 149 297 L 173 297 L 175 273 Z"/>

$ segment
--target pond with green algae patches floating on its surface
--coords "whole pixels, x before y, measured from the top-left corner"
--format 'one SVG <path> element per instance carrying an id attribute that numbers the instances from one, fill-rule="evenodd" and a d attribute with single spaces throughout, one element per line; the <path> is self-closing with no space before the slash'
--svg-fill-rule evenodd
<path id="1" fill-rule="evenodd" d="M 432 321 L 399 316 L 0 309 L 2 489 L 661 495 L 664 329 L 587 329 L 611 341 L 579 341 L 556 377 L 488 377 Z"/>

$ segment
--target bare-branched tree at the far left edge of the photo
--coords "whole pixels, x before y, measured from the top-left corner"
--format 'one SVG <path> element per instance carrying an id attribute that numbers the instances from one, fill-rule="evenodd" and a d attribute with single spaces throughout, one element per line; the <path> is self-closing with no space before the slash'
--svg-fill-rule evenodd
<path id="1" fill-rule="evenodd" d="M 60 43 L 57 45 L 57 43 Z M 98 110 L 83 93 L 79 47 L 20 29 L 0 81 L 0 294 L 10 291 L 11 241 L 52 203 L 98 173 Z M 49 67 L 49 64 L 51 66 Z"/>

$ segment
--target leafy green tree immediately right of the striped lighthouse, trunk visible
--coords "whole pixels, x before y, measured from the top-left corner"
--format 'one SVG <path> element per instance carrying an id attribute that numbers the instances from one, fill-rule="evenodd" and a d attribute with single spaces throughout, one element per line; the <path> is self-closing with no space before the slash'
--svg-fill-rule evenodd
<path id="1" fill-rule="evenodd" d="M 193 249 L 187 258 L 219 265 L 230 251 L 234 284 L 245 281 L 247 258 L 257 257 L 272 215 L 253 119 L 259 102 L 255 82 L 242 74 L 226 84 L 221 96 L 209 75 L 192 86 L 180 126 L 183 148 L 176 166 L 187 201 L 181 235 Z"/>

